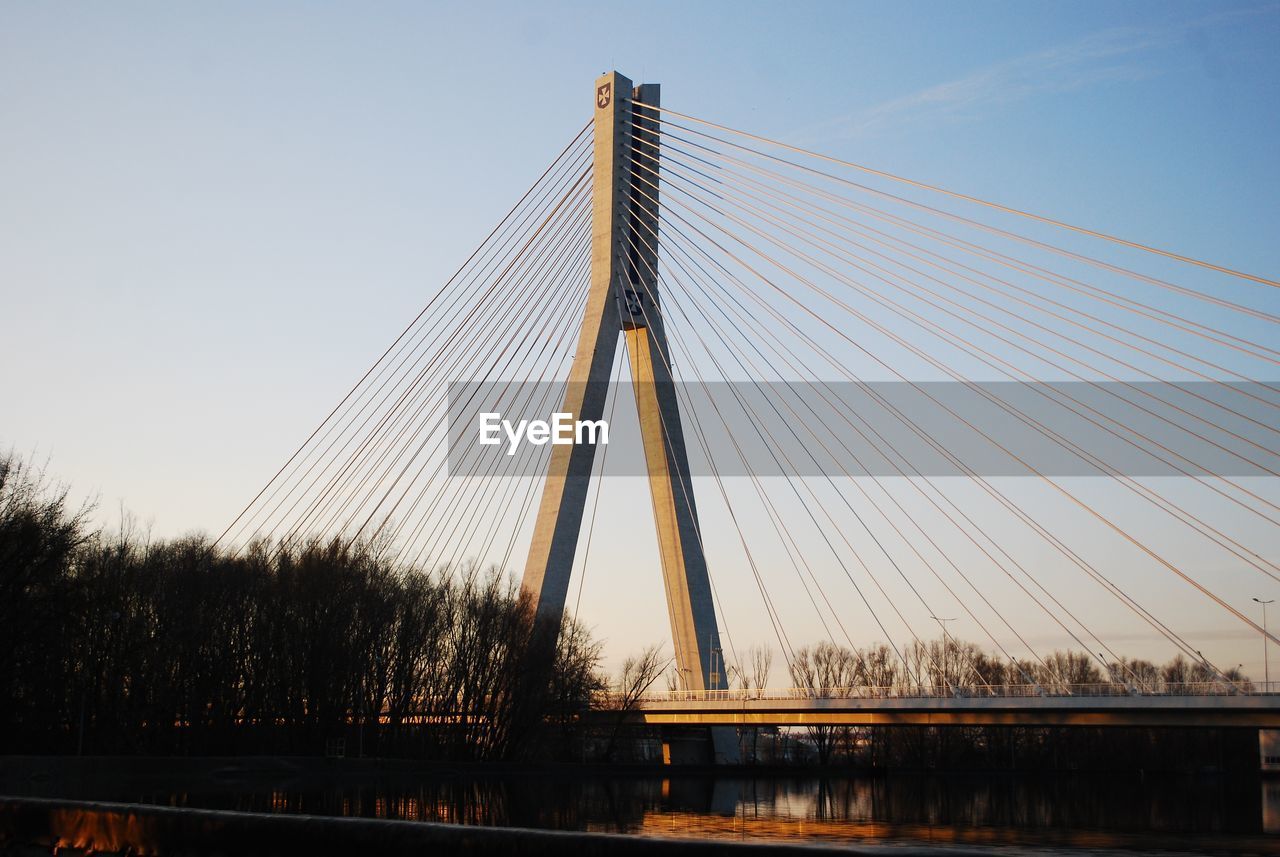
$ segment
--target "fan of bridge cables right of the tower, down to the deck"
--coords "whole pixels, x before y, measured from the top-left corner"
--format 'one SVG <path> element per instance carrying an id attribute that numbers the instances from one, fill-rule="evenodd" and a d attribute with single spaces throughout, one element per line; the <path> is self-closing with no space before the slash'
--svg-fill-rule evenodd
<path id="1" fill-rule="evenodd" d="M 648 133 L 635 138 L 631 192 L 658 207 L 659 226 L 639 224 L 632 252 L 641 258 L 636 244 L 648 255 L 657 247 L 655 311 L 678 353 L 672 366 L 682 413 L 741 536 L 741 556 L 717 558 L 717 567 L 751 569 L 783 654 L 794 649 L 785 624 L 796 624 L 797 605 L 806 604 L 810 618 L 800 622 L 817 618 L 814 628 L 850 646 L 850 628 L 861 623 L 891 643 L 908 673 L 906 647 L 895 641 L 919 651 L 937 631 L 951 638 L 943 611 L 1011 663 L 1038 663 L 1052 674 L 1033 645 L 1052 628 L 1108 674 L 1124 672 L 1120 646 L 1100 632 L 1103 623 L 1068 572 L 1219 677 L 1175 629 L 1180 623 L 1161 617 L 1164 587 L 1184 586 L 1193 601 L 1265 633 L 1202 565 L 1164 542 L 1216 551 L 1239 578 L 1280 582 L 1280 565 L 1256 546 L 1258 532 L 1262 545 L 1274 544 L 1267 540 L 1280 524 L 1271 484 L 1219 475 L 1224 460 L 1236 468 L 1230 472 L 1280 475 L 1280 388 L 1254 381 L 1280 357 L 1267 345 L 1280 322 L 1268 310 L 1275 281 L 669 109 L 635 107 L 645 123 L 636 128 Z M 854 180 L 832 164 L 925 198 Z M 1155 257 L 1157 267 L 1187 266 L 1197 288 L 1164 270 L 946 210 L 931 194 Z M 1006 400 L 970 384 L 975 379 L 1018 382 L 1025 395 Z M 1030 480 L 1011 485 L 973 469 L 948 449 L 945 430 L 879 393 L 873 381 L 883 380 L 911 388 Z M 937 380 L 969 385 L 1010 425 L 1106 473 L 1108 494 L 1124 498 L 1129 517 L 1146 518 L 1146 530 L 1105 508 L 1088 484 L 1043 472 L 1037 457 L 938 398 Z M 850 385 L 867 398 L 851 400 Z M 869 411 L 882 418 L 868 418 Z M 713 439 L 708 422 L 718 430 Z M 1106 443 L 1082 443 L 1064 428 L 1073 422 Z M 919 455 L 905 452 L 913 446 L 946 460 L 966 477 L 963 485 L 922 472 Z M 759 460 L 746 460 L 748 448 L 763 449 L 785 485 L 754 473 Z M 859 460 L 868 450 L 876 467 Z M 1133 460 L 1193 478 L 1132 476 Z M 891 478 L 859 478 L 872 472 Z M 723 489 L 726 475 L 745 475 L 749 491 Z M 1027 500 L 1028 481 L 1038 486 L 1036 503 Z M 1230 526 L 1240 517 L 1254 539 Z M 1020 556 L 1014 544 L 1024 541 L 1042 558 Z M 1143 574 L 1117 572 L 1091 541 L 1124 549 Z M 788 617 L 778 609 L 782 592 L 794 592 Z M 927 661 L 915 666 L 937 674 Z"/>

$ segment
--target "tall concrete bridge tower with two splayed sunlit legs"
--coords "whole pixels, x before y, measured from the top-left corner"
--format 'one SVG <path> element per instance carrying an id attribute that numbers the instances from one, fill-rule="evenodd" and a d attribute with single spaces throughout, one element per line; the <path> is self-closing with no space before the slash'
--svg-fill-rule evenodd
<path id="1" fill-rule="evenodd" d="M 649 471 L 676 668 L 686 689 L 701 691 L 727 687 L 728 682 L 658 295 L 658 180 L 655 171 L 632 161 L 635 151 L 643 148 L 639 162 L 657 162 L 658 123 L 634 113 L 632 98 L 657 106 L 659 88 L 632 88 L 617 72 L 595 81 L 590 293 L 561 411 L 575 420 L 603 417 L 622 331 Z M 594 459 L 591 444 L 552 446 L 522 582 L 544 625 L 558 624 L 564 611 Z M 732 729 L 714 728 L 712 741 L 717 760 L 737 760 Z"/>

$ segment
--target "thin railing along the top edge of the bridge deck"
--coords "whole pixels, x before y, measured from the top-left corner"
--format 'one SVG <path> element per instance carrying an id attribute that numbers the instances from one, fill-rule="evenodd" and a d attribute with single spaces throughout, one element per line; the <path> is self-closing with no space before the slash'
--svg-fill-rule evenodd
<path id="1" fill-rule="evenodd" d="M 922 698 L 1030 698 L 1030 697 L 1202 697 L 1266 696 L 1280 693 L 1280 682 L 1176 682 L 1158 689 L 1110 682 L 1096 684 L 977 684 L 954 687 L 786 687 L 723 691 L 655 691 L 640 697 L 654 702 L 749 702 L 764 700 L 922 700 Z M 612 698 L 605 695 L 605 698 Z"/>

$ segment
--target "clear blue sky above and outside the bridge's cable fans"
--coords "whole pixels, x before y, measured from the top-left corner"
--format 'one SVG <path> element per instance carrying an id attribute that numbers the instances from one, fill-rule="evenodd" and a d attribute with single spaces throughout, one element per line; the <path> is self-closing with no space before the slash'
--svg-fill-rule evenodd
<path id="1" fill-rule="evenodd" d="M 1277 4 L 644 9 L 0 3 L 0 444 L 159 536 L 220 531 L 611 68 L 687 113 L 1280 274 Z M 1261 673 L 1254 642 L 1220 661 Z"/>

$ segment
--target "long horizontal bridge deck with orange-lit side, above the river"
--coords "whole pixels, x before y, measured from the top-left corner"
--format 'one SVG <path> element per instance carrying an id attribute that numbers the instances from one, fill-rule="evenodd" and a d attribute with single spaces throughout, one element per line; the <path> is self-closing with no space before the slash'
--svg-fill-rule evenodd
<path id="1" fill-rule="evenodd" d="M 673 691 L 645 696 L 632 712 L 652 725 L 872 727 L 1280 727 L 1280 683 L 1266 691 L 1188 684 L 1135 693 L 1114 684 L 809 691 Z"/>

